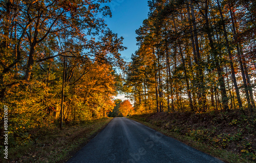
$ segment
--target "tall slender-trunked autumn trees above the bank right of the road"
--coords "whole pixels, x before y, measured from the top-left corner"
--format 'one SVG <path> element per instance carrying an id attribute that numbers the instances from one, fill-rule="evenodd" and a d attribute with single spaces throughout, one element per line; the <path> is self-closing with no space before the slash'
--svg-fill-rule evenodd
<path id="1" fill-rule="evenodd" d="M 150 1 L 124 90 L 139 113 L 255 111 L 255 2 Z"/>

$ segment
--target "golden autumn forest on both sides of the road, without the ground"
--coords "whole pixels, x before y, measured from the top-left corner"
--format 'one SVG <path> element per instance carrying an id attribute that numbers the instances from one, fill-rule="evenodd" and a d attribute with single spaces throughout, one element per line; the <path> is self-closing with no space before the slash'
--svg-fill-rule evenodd
<path id="1" fill-rule="evenodd" d="M 148 1 L 131 62 L 104 20 L 108 2 L 1 1 L 1 135 L 8 106 L 10 147 L 104 117 L 255 116 L 255 1 Z"/>

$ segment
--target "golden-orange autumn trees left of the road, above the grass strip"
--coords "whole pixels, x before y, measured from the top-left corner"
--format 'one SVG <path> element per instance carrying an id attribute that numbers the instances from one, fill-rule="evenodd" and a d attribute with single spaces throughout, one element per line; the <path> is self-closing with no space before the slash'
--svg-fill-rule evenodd
<path id="1" fill-rule="evenodd" d="M 1 137 L 7 106 L 10 147 L 30 142 L 31 129 L 106 117 L 114 108 L 126 47 L 104 22 L 106 2 L 1 1 Z"/>

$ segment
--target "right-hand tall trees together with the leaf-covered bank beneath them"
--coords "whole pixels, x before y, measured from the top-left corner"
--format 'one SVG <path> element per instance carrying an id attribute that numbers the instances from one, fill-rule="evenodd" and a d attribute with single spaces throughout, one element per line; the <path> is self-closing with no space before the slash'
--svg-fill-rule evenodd
<path id="1" fill-rule="evenodd" d="M 255 162 L 256 2 L 148 7 L 125 69 L 132 118 L 225 162 Z"/>

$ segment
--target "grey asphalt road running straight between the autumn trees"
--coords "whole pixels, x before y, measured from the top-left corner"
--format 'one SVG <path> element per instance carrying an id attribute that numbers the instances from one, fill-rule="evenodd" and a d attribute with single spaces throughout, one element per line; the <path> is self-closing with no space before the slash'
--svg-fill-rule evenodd
<path id="1" fill-rule="evenodd" d="M 223 162 L 127 118 L 114 118 L 68 163 Z"/>

